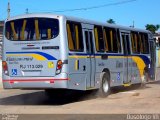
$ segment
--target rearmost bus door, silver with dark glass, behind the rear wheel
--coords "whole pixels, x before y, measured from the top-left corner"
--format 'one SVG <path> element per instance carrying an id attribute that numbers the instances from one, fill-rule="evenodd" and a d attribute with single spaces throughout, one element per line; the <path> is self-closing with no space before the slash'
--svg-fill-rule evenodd
<path id="1" fill-rule="evenodd" d="M 86 43 L 86 87 L 87 89 L 95 86 L 95 55 L 93 47 L 93 31 L 84 29 Z"/>

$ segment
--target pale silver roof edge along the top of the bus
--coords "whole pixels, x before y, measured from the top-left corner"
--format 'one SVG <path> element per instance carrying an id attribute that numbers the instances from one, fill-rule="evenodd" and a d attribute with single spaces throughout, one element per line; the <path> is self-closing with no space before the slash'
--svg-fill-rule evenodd
<path id="1" fill-rule="evenodd" d="M 18 15 L 18 16 L 7 18 L 6 21 L 21 19 L 21 18 L 30 18 L 30 17 L 53 17 L 53 18 L 64 17 L 64 18 L 66 18 L 66 20 L 77 21 L 77 22 L 82 22 L 82 23 L 86 23 L 86 24 L 88 23 L 88 24 L 95 24 L 95 25 L 102 25 L 102 26 L 108 26 L 108 27 L 113 27 L 113 28 L 119 28 L 122 30 L 151 33 L 150 31 L 144 30 L 144 29 L 126 27 L 126 26 L 116 25 L 116 24 L 109 24 L 107 22 L 106 23 L 97 22 L 97 21 L 93 21 L 93 20 L 87 20 L 87 19 L 83 19 L 83 18 L 71 17 L 71 16 L 66 16 L 66 15 L 58 15 L 58 14 L 53 14 L 53 13 L 29 13 L 29 14 Z"/>

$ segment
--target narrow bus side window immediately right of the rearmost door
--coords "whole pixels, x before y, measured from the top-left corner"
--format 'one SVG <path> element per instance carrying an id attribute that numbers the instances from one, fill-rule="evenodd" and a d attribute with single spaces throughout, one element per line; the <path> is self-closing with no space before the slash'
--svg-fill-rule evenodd
<path id="1" fill-rule="evenodd" d="M 102 26 L 95 26 L 94 34 L 95 34 L 95 43 L 97 52 L 104 52 L 105 49 L 104 49 Z"/>

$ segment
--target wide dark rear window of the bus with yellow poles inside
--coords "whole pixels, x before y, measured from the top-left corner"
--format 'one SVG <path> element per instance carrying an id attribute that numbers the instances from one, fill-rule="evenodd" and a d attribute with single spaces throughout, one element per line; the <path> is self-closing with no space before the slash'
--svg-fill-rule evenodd
<path id="1" fill-rule="evenodd" d="M 24 18 L 8 21 L 5 28 L 8 40 L 50 40 L 59 34 L 59 21 L 53 18 Z"/>

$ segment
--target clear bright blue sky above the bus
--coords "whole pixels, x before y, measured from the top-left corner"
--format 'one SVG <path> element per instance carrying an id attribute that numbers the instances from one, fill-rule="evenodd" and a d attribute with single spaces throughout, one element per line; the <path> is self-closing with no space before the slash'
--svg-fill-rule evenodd
<path id="1" fill-rule="evenodd" d="M 11 16 L 25 14 L 28 9 L 29 13 L 51 12 L 98 22 L 106 22 L 111 18 L 116 24 L 123 26 L 131 26 L 134 21 L 135 27 L 142 29 L 145 29 L 146 24 L 160 24 L 160 0 L 0 0 L 0 20 L 7 17 L 9 1 Z M 130 2 L 114 4 L 124 1 Z M 101 5 L 106 6 L 96 9 L 63 11 Z"/>

